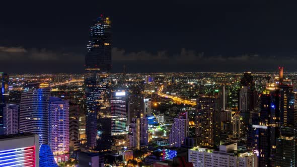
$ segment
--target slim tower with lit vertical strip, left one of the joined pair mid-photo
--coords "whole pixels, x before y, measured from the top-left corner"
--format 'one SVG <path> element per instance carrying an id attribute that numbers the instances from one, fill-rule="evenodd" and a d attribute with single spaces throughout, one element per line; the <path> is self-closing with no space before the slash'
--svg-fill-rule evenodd
<path id="1" fill-rule="evenodd" d="M 140 118 L 132 118 L 128 132 L 128 147 L 140 149 Z"/>

